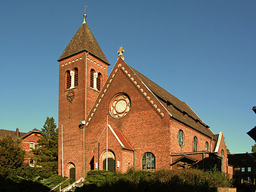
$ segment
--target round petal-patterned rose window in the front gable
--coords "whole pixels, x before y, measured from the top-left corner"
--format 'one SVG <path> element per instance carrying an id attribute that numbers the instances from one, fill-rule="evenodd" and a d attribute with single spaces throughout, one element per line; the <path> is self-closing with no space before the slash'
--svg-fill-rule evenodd
<path id="1" fill-rule="evenodd" d="M 131 101 L 127 94 L 119 93 L 115 95 L 110 102 L 109 111 L 114 118 L 122 118 L 131 107 Z"/>

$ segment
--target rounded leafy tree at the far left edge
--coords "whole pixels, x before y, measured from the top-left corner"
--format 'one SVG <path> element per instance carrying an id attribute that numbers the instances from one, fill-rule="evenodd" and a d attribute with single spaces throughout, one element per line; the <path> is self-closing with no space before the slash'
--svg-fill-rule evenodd
<path id="1" fill-rule="evenodd" d="M 25 152 L 20 148 L 20 142 L 10 135 L 0 139 L 0 175 L 6 177 L 23 165 Z"/>

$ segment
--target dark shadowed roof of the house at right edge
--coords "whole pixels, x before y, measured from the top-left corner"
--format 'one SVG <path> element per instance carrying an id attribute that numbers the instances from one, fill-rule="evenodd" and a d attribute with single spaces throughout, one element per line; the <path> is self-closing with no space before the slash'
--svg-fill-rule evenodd
<path id="1" fill-rule="evenodd" d="M 229 164 L 234 167 L 255 167 L 256 153 L 239 153 L 228 155 Z"/>

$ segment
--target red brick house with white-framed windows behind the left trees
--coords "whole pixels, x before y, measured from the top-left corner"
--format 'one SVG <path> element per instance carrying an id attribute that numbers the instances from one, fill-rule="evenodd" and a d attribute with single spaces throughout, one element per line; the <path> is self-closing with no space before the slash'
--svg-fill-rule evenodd
<path id="1" fill-rule="evenodd" d="M 32 149 L 35 149 L 38 144 L 38 139 L 42 135 L 42 133 L 34 128 L 34 130 L 24 133 L 19 132 L 19 128 L 16 128 L 16 131 L 10 130 L 0 130 L 0 137 L 10 135 L 14 139 L 21 139 L 22 149 L 26 152 L 24 162 L 29 164 L 30 166 L 35 165 L 35 161 L 32 160 Z"/>

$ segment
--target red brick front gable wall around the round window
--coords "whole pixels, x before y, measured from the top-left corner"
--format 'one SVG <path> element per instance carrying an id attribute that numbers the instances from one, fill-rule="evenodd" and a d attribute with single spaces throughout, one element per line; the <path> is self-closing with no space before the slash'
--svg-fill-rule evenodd
<path id="1" fill-rule="evenodd" d="M 113 71 L 116 68 L 117 66 L 114 67 Z M 139 80 L 137 82 L 143 86 Z M 128 94 L 131 100 L 130 111 L 121 119 L 113 118 L 109 114 L 109 104 L 112 98 L 118 93 Z M 155 103 L 157 102 L 156 99 L 154 101 Z M 121 130 L 127 141 L 135 149 L 136 170 L 141 169 L 142 156 L 146 152 L 151 152 L 155 155 L 156 169 L 170 168 L 170 129 L 168 115 L 166 114 L 162 118 L 121 69 L 119 69 L 114 77 L 108 92 L 101 101 L 100 107 L 98 107 L 96 114 L 94 114 L 88 125 L 86 131 L 86 146 L 88 149 L 94 147 L 97 142 L 96 138 L 100 136 L 106 124 L 107 114 L 109 114 L 110 126 L 114 129 Z M 87 151 L 89 150 L 86 149 Z M 122 163 L 125 164 L 125 162 Z M 128 165 L 128 162 L 126 165 Z M 123 170 L 127 170 L 127 168 Z"/>

